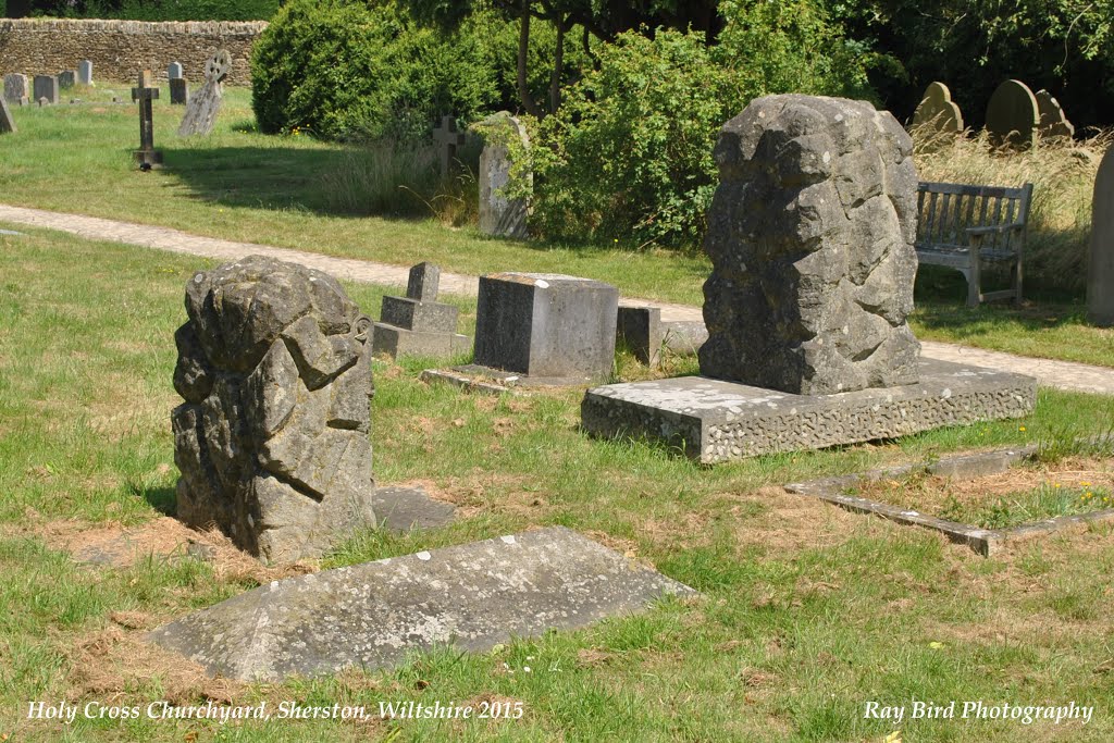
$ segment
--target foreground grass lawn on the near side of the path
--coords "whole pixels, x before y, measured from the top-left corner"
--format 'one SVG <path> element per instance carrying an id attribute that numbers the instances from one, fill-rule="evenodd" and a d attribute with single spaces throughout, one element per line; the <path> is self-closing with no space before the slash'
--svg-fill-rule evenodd
<path id="1" fill-rule="evenodd" d="M 283 684 L 192 674 L 141 633 L 274 576 L 193 558 L 80 565 L 67 547 L 92 529 L 157 525 L 174 510 L 173 332 L 185 319 L 184 283 L 205 262 L 27 232 L 0 235 L 0 740 L 881 741 L 895 730 L 917 742 L 1114 737 L 1108 527 L 984 559 L 776 487 L 1111 428 L 1111 399 L 1048 390 L 1019 421 L 707 469 L 658 447 L 587 439 L 576 391 L 467 395 L 419 382 L 420 363 L 377 362 L 378 481 L 421 482 L 457 504 L 460 518 L 407 536 L 363 532 L 325 567 L 564 525 L 703 596 L 489 654 L 416 656 L 389 673 Z M 374 313 L 380 291 L 350 291 Z M 629 360 L 619 366 L 623 378 L 644 373 Z M 497 700 L 521 702 L 525 715 L 227 726 L 27 720 L 33 700 L 159 698 L 374 710 Z M 868 702 L 952 700 L 1096 710 L 1086 726 L 863 716 Z"/>

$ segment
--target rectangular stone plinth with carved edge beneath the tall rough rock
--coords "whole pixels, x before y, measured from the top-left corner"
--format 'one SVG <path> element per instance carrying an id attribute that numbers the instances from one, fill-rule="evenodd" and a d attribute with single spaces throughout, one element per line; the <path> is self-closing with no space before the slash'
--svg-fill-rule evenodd
<path id="1" fill-rule="evenodd" d="M 902 387 L 801 395 L 706 377 L 598 387 L 582 427 L 604 438 L 664 440 L 704 463 L 908 436 L 1033 411 L 1036 379 L 921 360 Z"/>

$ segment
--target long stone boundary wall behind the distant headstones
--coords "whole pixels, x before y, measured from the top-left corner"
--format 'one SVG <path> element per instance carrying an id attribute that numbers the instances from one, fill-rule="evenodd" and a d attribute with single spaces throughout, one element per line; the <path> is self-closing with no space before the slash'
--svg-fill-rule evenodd
<path id="1" fill-rule="evenodd" d="M 266 21 L 152 21 L 0 19 L 0 76 L 57 75 L 92 61 L 92 80 L 127 82 L 143 69 L 166 79 L 179 61 L 201 82 L 205 60 L 218 48 L 232 53 L 228 85 L 251 84 L 252 45 Z"/>

